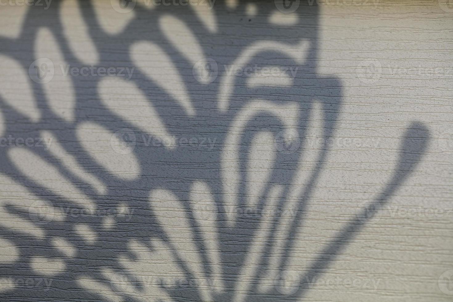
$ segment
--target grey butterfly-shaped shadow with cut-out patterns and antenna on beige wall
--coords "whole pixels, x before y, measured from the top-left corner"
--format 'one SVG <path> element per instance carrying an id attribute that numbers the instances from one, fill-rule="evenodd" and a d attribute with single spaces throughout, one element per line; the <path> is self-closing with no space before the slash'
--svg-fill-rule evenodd
<path id="1" fill-rule="evenodd" d="M 163 2 L 31 5 L 0 38 L 2 300 L 297 301 L 426 150 L 409 125 L 381 194 L 294 271 L 341 110 L 318 8 Z"/>

